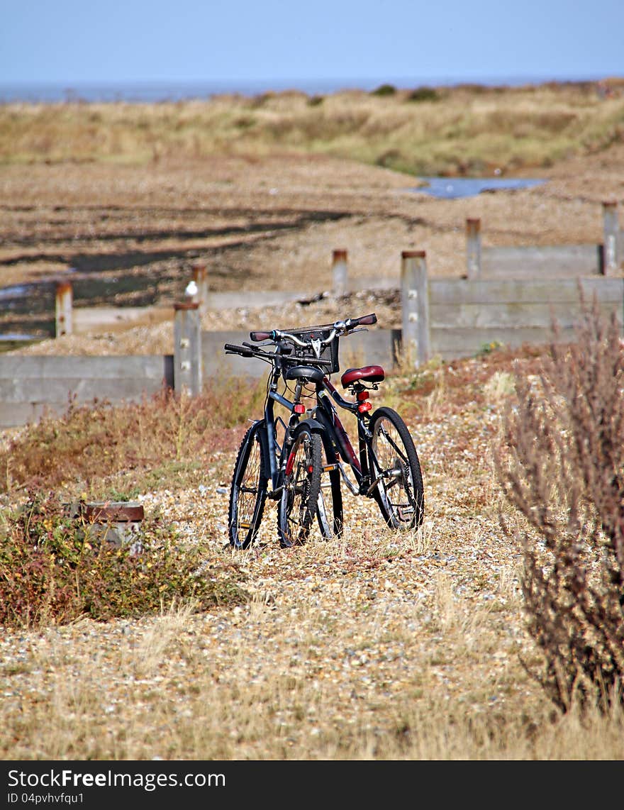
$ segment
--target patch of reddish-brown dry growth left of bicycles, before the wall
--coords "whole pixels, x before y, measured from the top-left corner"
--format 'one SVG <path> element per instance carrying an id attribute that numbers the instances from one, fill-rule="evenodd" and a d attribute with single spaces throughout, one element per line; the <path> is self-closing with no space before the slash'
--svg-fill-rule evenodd
<path id="1" fill-rule="evenodd" d="M 70 399 L 62 416 L 28 424 L 0 449 L 0 492 L 88 485 L 118 471 L 196 463 L 206 450 L 231 450 L 240 436 L 229 428 L 259 410 L 263 393 L 257 381 L 221 377 L 197 397 L 165 387 L 140 403 Z"/>

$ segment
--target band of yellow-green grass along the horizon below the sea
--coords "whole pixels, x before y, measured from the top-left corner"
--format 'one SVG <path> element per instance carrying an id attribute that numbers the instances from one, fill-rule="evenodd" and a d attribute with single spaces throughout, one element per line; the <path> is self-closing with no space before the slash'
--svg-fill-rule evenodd
<path id="1" fill-rule="evenodd" d="M 312 152 L 415 175 L 517 173 L 624 140 L 624 79 L 0 105 L 0 163 Z"/>

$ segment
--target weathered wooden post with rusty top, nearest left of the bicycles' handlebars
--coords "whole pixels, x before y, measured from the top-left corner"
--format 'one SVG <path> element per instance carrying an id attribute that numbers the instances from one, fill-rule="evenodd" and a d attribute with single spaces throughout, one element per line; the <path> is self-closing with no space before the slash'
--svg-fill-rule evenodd
<path id="1" fill-rule="evenodd" d="M 197 396 L 202 391 L 202 331 L 197 301 L 173 305 L 173 390 Z"/>

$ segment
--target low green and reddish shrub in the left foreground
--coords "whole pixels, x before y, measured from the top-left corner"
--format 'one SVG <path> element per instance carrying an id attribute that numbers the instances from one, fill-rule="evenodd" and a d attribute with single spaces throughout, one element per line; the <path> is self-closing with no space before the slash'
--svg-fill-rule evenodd
<path id="1" fill-rule="evenodd" d="M 175 532 L 148 519 L 133 544 L 98 539 L 53 493 L 31 493 L 0 525 L 0 626 L 42 628 L 155 615 L 182 602 L 205 610 L 248 596 L 236 565 L 206 576 L 206 548 L 172 543 Z"/>

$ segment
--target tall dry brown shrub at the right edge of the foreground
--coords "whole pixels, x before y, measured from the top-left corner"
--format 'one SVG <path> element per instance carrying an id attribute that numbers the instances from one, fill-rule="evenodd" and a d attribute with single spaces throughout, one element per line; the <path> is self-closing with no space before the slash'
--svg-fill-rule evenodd
<path id="1" fill-rule="evenodd" d="M 516 378 L 496 471 L 525 521 L 514 531 L 502 516 L 544 656 L 531 674 L 563 712 L 606 712 L 622 706 L 624 676 L 624 354 L 615 316 L 595 299 L 581 309 L 576 341 L 555 324 L 538 380 Z"/>

